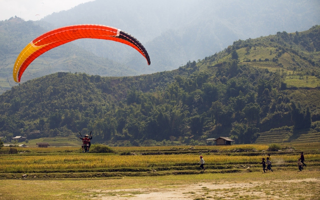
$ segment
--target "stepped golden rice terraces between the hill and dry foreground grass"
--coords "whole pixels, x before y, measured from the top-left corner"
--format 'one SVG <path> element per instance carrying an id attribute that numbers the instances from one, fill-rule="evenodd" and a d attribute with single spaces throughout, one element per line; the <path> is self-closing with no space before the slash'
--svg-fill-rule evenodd
<path id="1" fill-rule="evenodd" d="M 301 150 L 283 146 L 285 150 L 271 152 L 274 167 L 294 167 Z M 313 147 L 310 147 L 312 146 Z M 320 151 L 316 144 L 304 149 L 310 166 L 319 166 Z M 18 148 L 17 154 L 0 154 L 0 174 L 81 171 L 198 171 L 199 154 L 203 155 L 207 171 L 232 168 L 260 168 L 266 157 L 265 144 L 231 146 L 150 146 L 113 147 L 116 153 L 81 153 L 79 147 Z M 309 150 L 307 148 L 310 148 Z M 289 149 L 289 150 L 288 150 Z M 134 152 L 121 155 L 121 152 Z M 158 153 L 160 152 L 160 153 Z M 163 154 L 165 152 L 165 154 Z M 309 153 L 308 153 L 309 152 Z M 171 167 L 171 168 L 170 168 Z M 116 170 L 117 169 L 117 170 Z"/>

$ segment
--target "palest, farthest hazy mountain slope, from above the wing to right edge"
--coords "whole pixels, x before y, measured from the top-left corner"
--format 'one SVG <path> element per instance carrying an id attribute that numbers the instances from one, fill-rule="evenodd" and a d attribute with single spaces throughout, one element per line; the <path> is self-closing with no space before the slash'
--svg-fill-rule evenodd
<path id="1" fill-rule="evenodd" d="M 100 42 L 90 46 L 86 41 L 79 45 L 141 73 L 151 73 L 202 59 L 234 40 L 308 29 L 320 24 L 319 10 L 315 0 L 95 0 L 41 20 L 54 27 L 100 23 L 123 29 L 146 47 L 153 60 L 150 67 L 141 69 L 143 58 L 126 46 Z"/>

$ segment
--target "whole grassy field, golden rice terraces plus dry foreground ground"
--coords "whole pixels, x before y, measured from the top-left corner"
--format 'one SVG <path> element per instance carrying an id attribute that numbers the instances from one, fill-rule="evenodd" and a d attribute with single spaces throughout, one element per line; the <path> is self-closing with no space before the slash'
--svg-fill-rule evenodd
<path id="1" fill-rule="evenodd" d="M 0 199 L 319 199 L 320 143 L 279 146 L 19 147 L 0 154 Z M 299 171 L 302 150 L 307 167 Z M 267 153 L 273 172 L 263 173 Z"/>

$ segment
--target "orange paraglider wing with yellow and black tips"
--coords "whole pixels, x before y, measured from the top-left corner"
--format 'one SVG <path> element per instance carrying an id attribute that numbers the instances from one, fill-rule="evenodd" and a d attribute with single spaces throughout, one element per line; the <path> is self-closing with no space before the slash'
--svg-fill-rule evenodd
<path id="1" fill-rule="evenodd" d="M 145 57 L 148 65 L 151 63 L 143 45 L 136 38 L 118 28 L 96 24 L 70 25 L 50 30 L 28 43 L 15 60 L 14 81 L 20 82 L 26 67 L 42 53 L 81 38 L 107 39 L 127 44 L 139 51 Z"/>

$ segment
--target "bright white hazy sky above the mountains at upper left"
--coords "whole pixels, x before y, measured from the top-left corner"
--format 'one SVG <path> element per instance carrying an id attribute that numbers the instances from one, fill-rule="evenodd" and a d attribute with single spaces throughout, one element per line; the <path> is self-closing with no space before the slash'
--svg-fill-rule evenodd
<path id="1" fill-rule="evenodd" d="M 46 15 L 70 9 L 93 0 L 0 0 L 0 20 L 18 16 L 24 20 L 39 20 Z"/>

